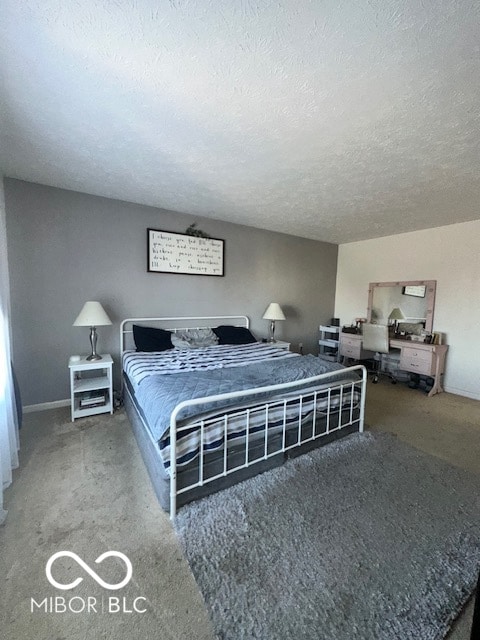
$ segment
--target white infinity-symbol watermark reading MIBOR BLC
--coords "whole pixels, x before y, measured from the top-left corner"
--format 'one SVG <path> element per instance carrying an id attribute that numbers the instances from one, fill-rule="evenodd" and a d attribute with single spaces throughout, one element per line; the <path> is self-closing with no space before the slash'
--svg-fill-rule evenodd
<path id="1" fill-rule="evenodd" d="M 81 567 L 85 573 L 87 573 L 95 582 L 97 582 L 103 589 L 108 591 L 118 591 L 123 589 L 131 580 L 133 574 L 132 563 L 124 553 L 120 551 L 106 551 L 102 553 L 95 560 L 95 564 L 102 563 L 106 558 L 120 558 L 125 565 L 126 573 L 123 580 L 116 584 L 110 584 L 105 582 L 96 571 L 94 571 L 80 556 L 73 551 L 58 551 L 54 553 L 47 561 L 45 565 L 45 575 L 49 583 L 61 591 L 69 591 L 75 589 L 83 581 L 83 578 L 79 576 L 72 582 L 64 584 L 58 582 L 52 576 L 52 566 L 59 558 L 71 558 Z M 31 613 L 145 613 L 146 598 L 138 596 L 135 598 L 126 598 L 119 596 L 71 596 L 65 597 L 64 595 L 47 596 L 45 598 L 30 598 L 30 612 Z"/>

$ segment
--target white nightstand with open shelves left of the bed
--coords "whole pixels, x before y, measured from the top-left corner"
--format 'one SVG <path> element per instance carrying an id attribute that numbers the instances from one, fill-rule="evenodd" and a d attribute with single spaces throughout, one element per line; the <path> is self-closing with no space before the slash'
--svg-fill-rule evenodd
<path id="1" fill-rule="evenodd" d="M 101 360 L 72 356 L 70 369 L 70 401 L 72 422 L 75 418 L 113 413 L 112 356 L 102 354 Z"/>

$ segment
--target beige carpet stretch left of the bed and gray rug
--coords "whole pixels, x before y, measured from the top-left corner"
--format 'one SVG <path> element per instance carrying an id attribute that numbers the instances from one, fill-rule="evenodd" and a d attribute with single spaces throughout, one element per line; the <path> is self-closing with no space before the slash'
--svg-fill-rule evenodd
<path id="1" fill-rule="evenodd" d="M 212 640 L 203 600 L 170 520 L 156 501 L 123 411 L 70 422 L 68 409 L 27 414 L 21 467 L 6 492 L 8 517 L 0 527 L 0 637 L 8 640 Z M 52 567 L 71 592 L 46 579 L 45 565 L 61 550 L 78 554 L 107 582 L 121 563 L 95 559 L 126 554 L 133 577 L 121 592 L 105 592 L 74 562 Z M 71 578 L 71 580 L 70 580 Z M 44 613 L 31 598 L 126 597 L 122 610 Z M 127 613 L 135 598 L 145 613 Z M 80 609 L 81 601 L 74 601 Z M 60 607 L 61 608 L 61 607 Z"/>

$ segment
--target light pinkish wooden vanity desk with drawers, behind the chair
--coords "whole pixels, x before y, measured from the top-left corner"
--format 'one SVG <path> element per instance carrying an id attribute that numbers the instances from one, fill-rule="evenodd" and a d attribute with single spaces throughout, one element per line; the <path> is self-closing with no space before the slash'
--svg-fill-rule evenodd
<path id="1" fill-rule="evenodd" d="M 400 351 L 401 371 L 430 376 L 434 384 L 429 396 L 443 391 L 442 376 L 445 373 L 445 356 L 448 351 L 446 344 L 426 344 L 412 340 L 392 338 L 389 340 L 392 350 Z M 372 351 L 363 348 L 362 336 L 354 333 L 340 334 L 340 356 L 352 360 L 367 360 L 375 355 Z"/>

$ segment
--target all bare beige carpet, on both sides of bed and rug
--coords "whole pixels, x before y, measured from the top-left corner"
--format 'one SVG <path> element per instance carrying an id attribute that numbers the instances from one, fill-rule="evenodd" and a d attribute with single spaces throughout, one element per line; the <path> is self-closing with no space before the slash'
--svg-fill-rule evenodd
<path id="1" fill-rule="evenodd" d="M 479 403 L 388 382 L 369 386 L 367 422 L 423 451 L 480 473 Z M 25 415 L 21 466 L 5 494 L 0 527 L 0 628 L 9 640 L 213 640 L 201 594 L 168 517 L 160 510 L 123 412 L 70 422 L 67 408 Z M 30 613 L 30 598 L 54 595 L 45 562 L 60 549 L 92 564 L 119 549 L 133 564 L 130 594 L 148 613 Z M 79 574 L 80 575 L 80 574 Z M 85 588 L 92 581 L 85 576 Z M 449 640 L 468 640 L 471 604 Z M 422 640 L 422 639 L 419 639 Z"/>

